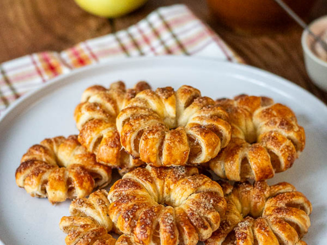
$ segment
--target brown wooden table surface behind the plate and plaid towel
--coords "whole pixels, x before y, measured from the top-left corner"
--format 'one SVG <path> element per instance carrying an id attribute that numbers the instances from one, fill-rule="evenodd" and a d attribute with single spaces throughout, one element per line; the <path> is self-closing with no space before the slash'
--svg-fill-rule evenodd
<path id="1" fill-rule="evenodd" d="M 327 93 L 309 79 L 300 44 L 301 28 L 289 24 L 260 35 L 240 35 L 223 28 L 209 14 L 205 0 L 149 0 L 141 9 L 108 20 L 81 10 L 73 0 L 1 0 L 0 62 L 40 51 L 61 51 L 86 40 L 129 27 L 152 10 L 176 3 L 188 5 L 247 64 L 282 76 L 327 103 Z M 308 21 L 327 14 L 327 0 L 317 0 Z"/>

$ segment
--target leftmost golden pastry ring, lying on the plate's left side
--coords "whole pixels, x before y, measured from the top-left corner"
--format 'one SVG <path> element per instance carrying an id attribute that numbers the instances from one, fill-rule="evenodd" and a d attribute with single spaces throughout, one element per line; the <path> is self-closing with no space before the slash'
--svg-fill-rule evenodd
<path id="1" fill-rule="evenodd" d="M 16 184 L 32 196 L 51 203 L 85 197 L 111 181 L 111 168 L 96 161 L 77 135 L 44 139 L 22 157 Z"/>

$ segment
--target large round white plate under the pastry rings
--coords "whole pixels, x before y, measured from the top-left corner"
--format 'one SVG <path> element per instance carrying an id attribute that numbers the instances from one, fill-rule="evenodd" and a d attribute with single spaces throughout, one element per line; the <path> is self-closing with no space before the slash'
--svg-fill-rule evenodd
<path id="1" fill-rule="evenodd" d="M 31 198 L 15 183 L 21 156 L 45 137 L 77 133 L 73 112 L 85 88 L 139 80 L 153 88 L 188 84 L 203 95 L 231 97 L 240 93 L 271 96 L 290 106 L 305 127 L 307 146 L 292 168 L 270 183 L 287 181 L 313 204 L 312 226 L 305 240 L 327 244 L 327 107 L 286 80 L 249 66 L 183 57 L 125 59 L 73 71 L 20 99 L 0 121 L 0 239 L 6 245 L 64 244 L 58 224 L 68 215 L 69 201 L 51 205 Z M 0 241 L 1 243 L 1 241 Z"/>

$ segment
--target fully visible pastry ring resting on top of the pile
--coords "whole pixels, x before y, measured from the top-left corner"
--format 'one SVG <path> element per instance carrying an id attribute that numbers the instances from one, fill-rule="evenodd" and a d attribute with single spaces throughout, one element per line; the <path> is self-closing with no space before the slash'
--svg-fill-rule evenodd
<path id="1" fill-rule="evenodd" d="M 231 134 L 227 113 L 181 86 L 144 90 L 116 118 L 125 151 L 152 166 L 199 164 L 217 156 Z"/>

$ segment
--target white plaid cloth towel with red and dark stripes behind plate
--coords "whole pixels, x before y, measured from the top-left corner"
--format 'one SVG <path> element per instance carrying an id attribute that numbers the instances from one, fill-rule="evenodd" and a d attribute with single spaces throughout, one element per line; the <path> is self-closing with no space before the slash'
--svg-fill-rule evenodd
<path id="1" fill-rule="evenodd" d="M 162 7 L 127 30 L 78 43 L 60 53 L 37 53 L 1 64 L 0 113 L 21 95 L 71 69 L 112 58 L 157 55 L 241 62 L 185 5 Z"/>

